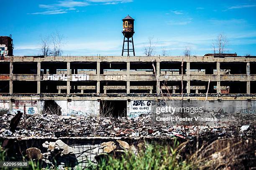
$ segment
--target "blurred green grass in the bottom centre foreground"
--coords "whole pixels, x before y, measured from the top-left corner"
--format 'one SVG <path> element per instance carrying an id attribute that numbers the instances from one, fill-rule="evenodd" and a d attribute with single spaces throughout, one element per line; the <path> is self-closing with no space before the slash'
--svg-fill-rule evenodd
<path id="1" fill-rule="evenodd" d="M 148 145 L 138 155 L 129 151 L 120 158 L 108 156 L 102 159 L 97 167 L 88 169 L 99 170 L 190 170 L 193 167 L 180 160 L 177 148 L 161 145 Z"/>

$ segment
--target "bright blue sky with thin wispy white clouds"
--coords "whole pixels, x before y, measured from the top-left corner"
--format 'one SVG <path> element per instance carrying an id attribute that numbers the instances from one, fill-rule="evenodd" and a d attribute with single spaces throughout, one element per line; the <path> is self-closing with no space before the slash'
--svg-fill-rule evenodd
<path id="1" fill-rule="evenodd" d="M 256 0 L 3 0 L 0 35 L 13 36 L 14 55 L 40 55 L 40 39 L 64 35 L 63 55 L 121 55 L 122 19 L 135 19 L 135 52 L 144 55 L 148 37 L 154 53 L 212 52 L 218 34 L 227 50 L 256 55 Z"/>

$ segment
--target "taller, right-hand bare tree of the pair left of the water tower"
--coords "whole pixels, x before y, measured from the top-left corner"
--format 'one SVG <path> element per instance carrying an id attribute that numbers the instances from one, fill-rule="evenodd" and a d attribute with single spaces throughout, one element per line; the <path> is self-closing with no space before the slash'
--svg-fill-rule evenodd
<path id="1" fill-rule="evenodd" d="M 51 35 L 51 41 L 53 45 L 51 55 L 61 56 L 62 54 L 61 47 L 63 45 L 63 38 L 64 36 L 59 34 L 59 32 L 57 31 Z"/>

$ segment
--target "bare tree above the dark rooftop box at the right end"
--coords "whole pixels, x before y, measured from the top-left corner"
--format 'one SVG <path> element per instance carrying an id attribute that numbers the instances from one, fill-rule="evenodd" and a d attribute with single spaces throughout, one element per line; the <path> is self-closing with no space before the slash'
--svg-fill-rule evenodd
<path id="1" fill-rule="evenodd" d="M 215 42 L 212 40 L 212 51 L 214 54 L 222 55 L 227 52 L 228 39 L 225 35 L 219 34 Z"/>

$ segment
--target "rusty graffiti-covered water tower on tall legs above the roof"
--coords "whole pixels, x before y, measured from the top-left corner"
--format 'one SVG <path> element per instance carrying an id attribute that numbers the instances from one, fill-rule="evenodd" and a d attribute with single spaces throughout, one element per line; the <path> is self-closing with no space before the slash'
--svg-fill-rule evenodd
<path id="1" fill-rule="evenodd" d="M 134 52 L 134 45 L 133 45 L 133 34 L 134 32 L 134 19 L 131 18 L 129 15 L 127 15 L 125 18 L 123 18 L 123 50 L 122 50 L 122 56 L 123 52 L 127 52 L 127 56 L 129 56 L 129 52 L 133 52 L 133 55 L 135 56 Z M 126 40 L 125 40 L 126 38 Z M 130 40 L 131 38 L 131 40 Z M 127 42 L 127 49 L 124 49 L 124 44 Z M 132 43 L 133 48 L 129 48 L 129 43 Z"/>

